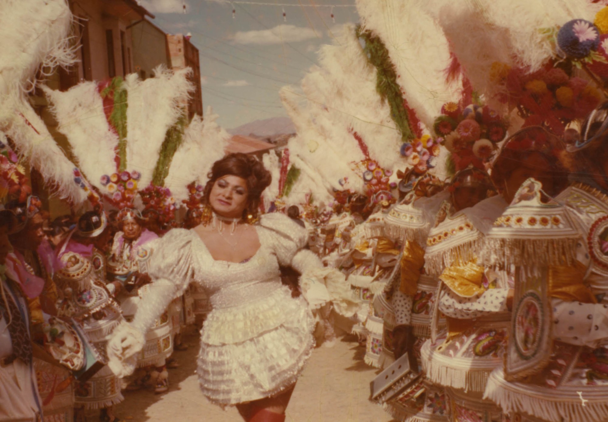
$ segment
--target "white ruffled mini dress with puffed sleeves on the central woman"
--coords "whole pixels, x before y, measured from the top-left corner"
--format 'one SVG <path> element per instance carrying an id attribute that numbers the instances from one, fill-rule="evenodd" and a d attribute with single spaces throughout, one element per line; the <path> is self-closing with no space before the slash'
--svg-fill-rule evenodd
<path id="1" fill-rule="evenodd" d="M 197 372 L 203 394 L 220 405 L 279 394 L 295 383 L 314 347 L 311 310 L 291 297 L 279 271 L 282 264 L 319 272 L 318 258 L 302 249 L 306 230 L 282 214 L 263 215 L 255 227 L 261 246 L 243 263 L 214 260 L 193 230 L 174 229 L 155 241 L 148 273 L 159 289 L 151 289 L 154 300 L 144 301 L 133 322 L 147 324 L 190 281 L 206 290 L 212 311 Z"/>

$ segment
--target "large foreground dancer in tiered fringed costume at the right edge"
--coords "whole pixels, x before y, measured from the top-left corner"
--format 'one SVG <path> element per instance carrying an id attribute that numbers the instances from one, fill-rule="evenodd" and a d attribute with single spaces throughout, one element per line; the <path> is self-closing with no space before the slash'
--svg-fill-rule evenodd
<path id="1" fill-rule="evenodd" d="M 488 248 L 502 249 L 486 250 L 486 261 L 516 266 L 516 287 L 505 366 L 492 372 L 485 397 L 511 420 L 608 418 L 606 110 L 591 113 L 567 147 L 574 183 L 556 198 L 564 206 L 542 204 L 530 181 L 491 233 Z M 519 219 L 525 224 L 515 226 Z"/>

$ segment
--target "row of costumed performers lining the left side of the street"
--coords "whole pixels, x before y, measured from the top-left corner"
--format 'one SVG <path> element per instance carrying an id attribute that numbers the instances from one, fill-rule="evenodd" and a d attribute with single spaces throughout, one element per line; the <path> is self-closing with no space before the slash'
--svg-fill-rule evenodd
<path id="1" fill-rule="evenodd" d="M 209 311 L 196 290 L 175 298 L 155 321 L 126 383 L 107 366 L 87 364 L 103 360 L 106 337 L 133 318 L 149 289 L 150 277 L 141 272 L 150 258 L 147 245 L 164 233 L 154 218 L 125 209 L 51 221 L 29 196 L 27 203 L 6 204 L 1 224 L 3 413 L 13 420 L 35 420 L 35 414 L 78 420 L 83 410 L 99 409 L 102 420 L 113 421 L 123 388 L 167 391 L 167 369 L 179 366 L 174 350 L 187 349 L 181 330 L 200 325 Z M 77 380 L 78 370 L 88 367 L 94 375 Z"/>

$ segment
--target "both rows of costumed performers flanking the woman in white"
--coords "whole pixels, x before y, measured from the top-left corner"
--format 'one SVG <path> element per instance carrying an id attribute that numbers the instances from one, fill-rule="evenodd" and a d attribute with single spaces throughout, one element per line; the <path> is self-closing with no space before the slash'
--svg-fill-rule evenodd
<path id="1" fill-rule="evenodd" d="M 308 248 L 350 286 L 350 312 L 329 298 L 316 307 L 317 341 L 356 333 L 365 363 L 378 368 L 408 353 L 418 375 L 384 403 L 393 417 L 606 420 L 607 123 L 603 105 L 582 137 L 526 127 L 506 139 L 490 172 L 469 166 L 447 183 L 412 173 L 396 204 L 373 210 L 353 195 L 308 218 L 311 209 L 300 215 L 277 201 L 275 212 L 305 225 Z M 205 214 L 191 209 L 184 227 Z M 125 385 L 95 364 L 112 330 L 155 294 L 150 246 L 176 229 L 130 208 L 50 220 L 36 196 L 10 201 L 0 216 L 5 412 L 50 421 L 100 409 L 112 421 L 124 387 L 165 392 L 173 352 L 187 347 L 181 330 L 209 311 L 193 287 L 145 333 Z M 284 275 L 299 296 L 299 273 Z"/>

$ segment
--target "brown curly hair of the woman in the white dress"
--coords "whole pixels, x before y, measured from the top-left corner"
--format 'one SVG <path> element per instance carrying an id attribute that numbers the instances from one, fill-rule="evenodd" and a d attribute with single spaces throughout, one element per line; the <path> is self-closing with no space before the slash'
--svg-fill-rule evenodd
<path id="1" fill-rule="evenodd" d="M 202 203 L 209 205 L 209 195 L 213 184 L 227 175 L 238 176 L 246 180 L 248 197 L 247 207 L 243 211 L 243 219 L 247 219 L 249 215 L 254 218 L 257 217 L 261 194 L 272 181 L 271 173 L 255 156 L 242 152 L 229 154 L 213 163 L 211 171 L 207 174 L 209 181 L 207 181 L 203 191 Z"/>

